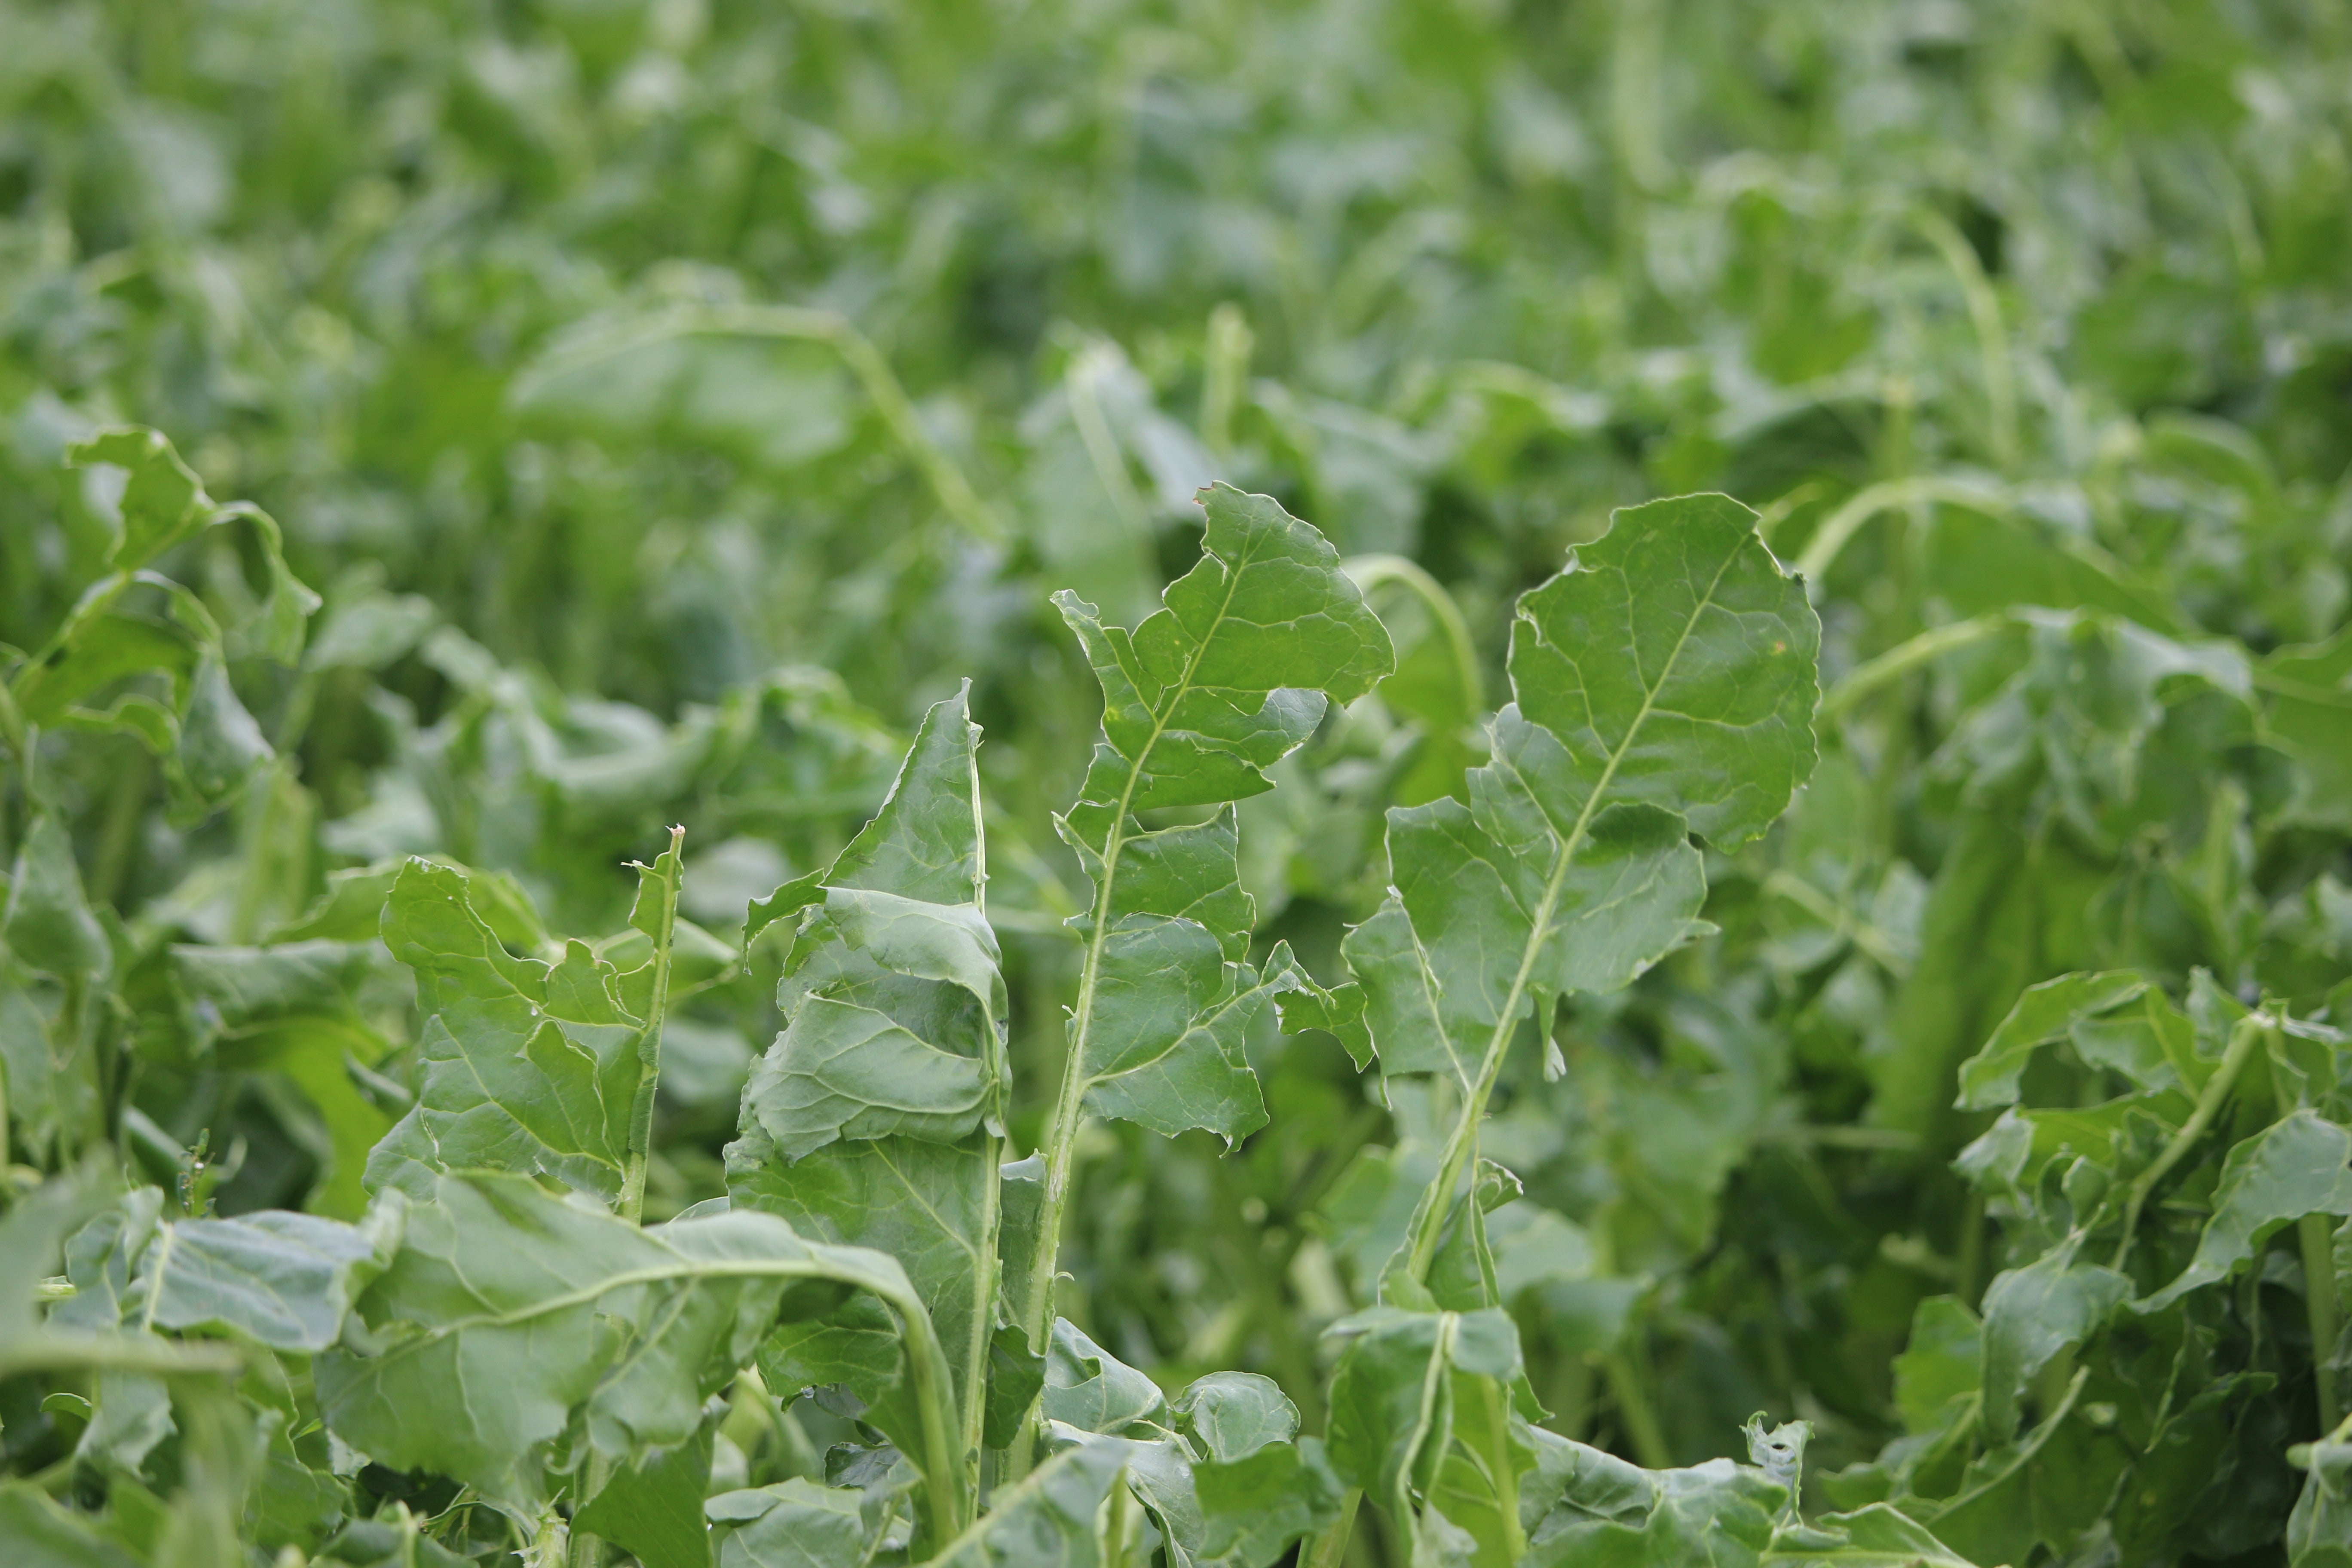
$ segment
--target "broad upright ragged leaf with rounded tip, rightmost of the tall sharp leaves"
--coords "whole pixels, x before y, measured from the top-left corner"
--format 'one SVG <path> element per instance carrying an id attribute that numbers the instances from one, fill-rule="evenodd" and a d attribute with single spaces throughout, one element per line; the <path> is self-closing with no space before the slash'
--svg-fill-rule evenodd
<path id="1" fill-rule="evenodd" d="M 1722 496 L 1616 512 L 1522 597 L 1491 759 L 1468 804 L 1388 811 L 1390 898 L 1341 947 L 1383 1074 L 1463 1091 L 1392 1300 L 1428 1279 L 1522 1020 L 1543 1037 L 1559 994 L 1618 990 L 1700 936 L 1691 830 L 1736 846 L 1809 776 L 1818 646 L 1802 583 Z"/>

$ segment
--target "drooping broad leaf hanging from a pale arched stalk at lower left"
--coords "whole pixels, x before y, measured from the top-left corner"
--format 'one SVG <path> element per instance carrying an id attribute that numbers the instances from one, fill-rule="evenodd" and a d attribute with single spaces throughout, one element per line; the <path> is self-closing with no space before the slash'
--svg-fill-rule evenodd
<path id="1" fill-rule="evenodd" d="M 640 1229 L 517 1175 L 437 1175 L 360 1295 L 365 1333 L 320 1356 L 320 1406 L 386 1465 L 532 1505 L 546 1446 L 576 1418 L 614 1460 L 689 1441 L 807 1281 L 882 1295 L 910 1363 L 938 1366 L 906 1274 L 880 1253 L 802 1241 L 750 1211 Z"/>

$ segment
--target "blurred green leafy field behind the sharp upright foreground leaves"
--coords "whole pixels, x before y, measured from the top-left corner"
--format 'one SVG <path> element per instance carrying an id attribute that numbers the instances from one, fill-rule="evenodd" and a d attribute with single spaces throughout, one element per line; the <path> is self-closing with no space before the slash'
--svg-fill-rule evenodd
<path id="1" fill-rule="evenodd" d="M 346 933 L 306 919 L 327 877 L 400 853 L 607 931 L 670 820 L 724 933 L 967 675 L 1035 1100 L 1082 903 L 1049 811 L 1096 722 L 1044 595 L 1141 614 L 1218 477 L 1397 557 L 1362 571 L 1404 672 L 1244 809 L 1263 936 L 1327 976 L 1378 811 L 1458 788 L 1512 595 L 1613 505 L 1759 508 L 1820 567 L 1828 679 L 2013 602 L 2324 642 L 2347 80 L 2333 0 L 9 0 L 0 644 L 94 576 L 115 498 L 59 458 L 120 421 L 327 597 L 296 668 L 230 646 L 235 804 L 127 736 L 54 759 L 136 954 L 148 1159 L 207 1133 L 242 1147 L 223 1208 L 348 1213 L 405 1081 L 397 969 L 353 973 L 346 1072 L 238 1046 L 200 947 Z M 223 621 L 261 581 L 230 534 L 174 559 Z M 1541 1234 L 1505 1284 L 1564 1432 L 1691 1460 L 1769 1403 L 1830 1465 L 1875 1450 L 1912 1302 L 1990 1267 L 1959 1131 L 1884 1114 L 1889 1051 L 1973 1051 L 2077 961 L 2312 1006 L 2340 976 L 2331 780 L 2249 762 L 2239 816 L 2117 827 L 2065 759 L 2129 773 L 2145 715 L 2093 701 L 2020 759 L 1966 729 L 1997 675 L 1837 731 L 1797 820 L 1710 872 L 1726 936 L 1512 1086 L 1489 1152 Z M 1945 851 L 2044 818 L 2056 912 L 1978 950 L 1999 886 L 1952 891 Z M 2164 877 L 2171 924 L 2084 924 Z M 656 1208 L 720 1187 L 767 964 L 673 1030 Z M 14 1157 L 56 1164 L 71 1107 L 14 1048 Z M 1237 1159 L 1091 1135 L 1073 1316 L 1157 1375 L 1270 1371 L 1312 1425 L 1416 1112 L 1324 1039 L 1261 1067 Z"/>

